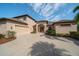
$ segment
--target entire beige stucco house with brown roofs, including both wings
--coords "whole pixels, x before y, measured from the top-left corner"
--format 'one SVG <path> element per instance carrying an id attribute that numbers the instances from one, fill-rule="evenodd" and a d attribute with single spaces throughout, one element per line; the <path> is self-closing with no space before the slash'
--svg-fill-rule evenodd
<path id="1" fill-rule="evenodd" d="M 0 34 L 7 34 L 7 31 L 15 31 L 16 35 L 24 35 L 32 32 L 46 32 L 52 27 L 57 34 L 69 34 L 70 31 L 77 31 L 77 24 L 71 20 L 54 22 L 52 26 L 46 20 L 36 21 L 29 15 L 21 15 L 13 18 L 0 18 Z"/>

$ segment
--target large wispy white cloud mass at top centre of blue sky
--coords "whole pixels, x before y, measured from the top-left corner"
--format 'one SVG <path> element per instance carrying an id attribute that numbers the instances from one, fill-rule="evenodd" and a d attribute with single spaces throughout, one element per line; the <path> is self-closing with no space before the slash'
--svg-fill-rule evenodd
<path id="1" fill-rule="evenodd" d="M 45 19 L 51 19 L 54 17 L 55 12 L 64 6 L 63 3 L 34 3 L 30 4 L 35 12 L 45 17 Z M 55 15 L 56 16 L 56 15 Z M 56 16 L 59 18 L 58 16 Z"/>

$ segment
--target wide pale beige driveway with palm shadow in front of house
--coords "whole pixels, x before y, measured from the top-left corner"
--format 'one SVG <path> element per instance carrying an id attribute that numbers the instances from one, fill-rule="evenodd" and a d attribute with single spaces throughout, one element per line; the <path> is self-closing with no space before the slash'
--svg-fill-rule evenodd
<path id="1" fill-rule="evenodd" d="M 0 56 L 79 56 L 79 41 L 69 37 L 25 34 L 0 45 Z"/>

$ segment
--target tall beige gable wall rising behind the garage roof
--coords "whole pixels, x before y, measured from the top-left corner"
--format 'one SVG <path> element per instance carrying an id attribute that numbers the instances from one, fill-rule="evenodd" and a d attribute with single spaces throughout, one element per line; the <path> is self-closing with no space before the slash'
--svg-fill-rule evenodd
<path id="1" fill-rule="evenodd" d="M 24 18 L 26 18 L 24 20 Z M 20 18 L 14 18 L 15 20 L 19 20 L 22 22 L 26 22 L 28 24 L 27 30 L 26 32 L 29 34 L 31 32 L 33 32 L 33 26 L 36 24 L 36 22 L 34 20 L 32 20 L 31 18 L 29 18 L 28 16 L 25 17 L 20 17 Z"/>

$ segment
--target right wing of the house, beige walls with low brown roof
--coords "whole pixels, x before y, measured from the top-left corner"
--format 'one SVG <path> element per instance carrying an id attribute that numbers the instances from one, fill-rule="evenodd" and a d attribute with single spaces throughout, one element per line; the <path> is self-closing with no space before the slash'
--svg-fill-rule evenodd
<path id="1" fill-rule="evenodd" d="M 70 34 L 71 31 L 77 31 L 77 24 L 74 20 L 61 20 L 52 24 L 57 34 Z"/>

